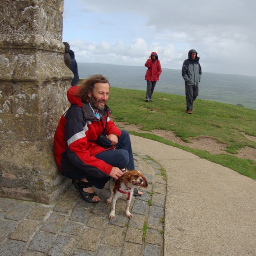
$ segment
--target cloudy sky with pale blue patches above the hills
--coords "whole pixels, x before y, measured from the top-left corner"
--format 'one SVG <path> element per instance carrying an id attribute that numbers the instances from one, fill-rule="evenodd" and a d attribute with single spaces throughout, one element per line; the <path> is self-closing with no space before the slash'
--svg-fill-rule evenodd
<path id="1" fill-rule="evenodd" d="M 77 62 L 181 69 L 195 49 L 202 71 L 256 76 L 256 0 L 65 0 L 63 42 Z"/>

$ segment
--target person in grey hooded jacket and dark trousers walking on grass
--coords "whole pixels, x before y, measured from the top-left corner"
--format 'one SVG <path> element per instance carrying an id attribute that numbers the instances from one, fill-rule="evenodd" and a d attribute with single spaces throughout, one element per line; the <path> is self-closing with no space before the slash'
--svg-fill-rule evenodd
<path id="1" fill-rule="evenodd" d="M 188 51 L 188 59 L 184 60 L 181 74 L 185 81 L 185 93 L 187 102 L 187 113 L 192 114 L 193 103 L 199 92 L 202 68 L 199 64 L 199 57 L 196 50 Z"/>

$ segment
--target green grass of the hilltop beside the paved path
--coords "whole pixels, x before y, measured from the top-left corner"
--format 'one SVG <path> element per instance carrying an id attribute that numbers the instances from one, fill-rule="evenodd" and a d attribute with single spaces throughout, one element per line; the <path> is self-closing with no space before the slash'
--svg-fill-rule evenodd
<path id="1" fill-rule="evenodd" d="M 245 146 L 256 148 L 256 142 L 243 136 L 256 137 L 255 110 L 196 99 L 193 114 L 188 115 L 184 96 L 154 92 L 153 102 L 144 99 L 145 91 L 111 87 L 108 106 L 116 121 L 142 126 L 142 133 L 129 131 L 131 134 L 179 147 L 256 180 L 256 164 L 236 157 Z M 170 130 L 185 142 L 189 137 L 212 136 L 227 144 L 226 151 L 232 155 L 213 155 L 147 133 L 154 129 Z"/>

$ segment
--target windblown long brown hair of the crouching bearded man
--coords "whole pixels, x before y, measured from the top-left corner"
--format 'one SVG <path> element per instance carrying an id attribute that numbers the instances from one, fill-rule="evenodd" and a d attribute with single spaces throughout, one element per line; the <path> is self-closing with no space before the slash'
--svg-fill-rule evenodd
<path id="1" fill-rule="evenodd" d="M 108 83 L 109 84 L 109 81 L 103 75 L 92 75 L 92 76 L 88 77 L 85 80 L 85 82 L 78 87 L 78 90 L 76 92 L 76 96 L 78 98 L 81 98 L 82 102 L 88 102 L 89 99 L 90 99 L 88 94 L 89 93 L 91 93 L 91 94 L 93 93 L 94 85 L 96 83 Z"/>

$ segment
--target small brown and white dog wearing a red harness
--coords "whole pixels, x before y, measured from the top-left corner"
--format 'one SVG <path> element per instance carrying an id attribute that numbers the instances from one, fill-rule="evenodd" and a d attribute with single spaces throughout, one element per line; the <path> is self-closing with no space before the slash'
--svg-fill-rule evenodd
<path id="1" fill-rule="evenodd" d="M 126 216 L 128 218 L 132 217 L 129 207 L 133 196 L 133 189 L 138 189 L 139 187 L 147 188 L 147 180 L 142 173 L 137 170 L 126 170 L 126 172 L 119 179 L 111 179 L 109 181 L 111 195 L 106 202 L 110 204 L 112 201 L 111 212 L 109 214 L 110 219 L 115 217 L 116 202 L 119 198 L 126 199 Z"/>

